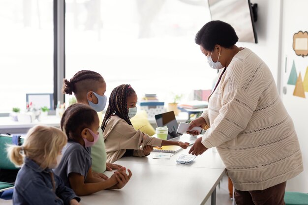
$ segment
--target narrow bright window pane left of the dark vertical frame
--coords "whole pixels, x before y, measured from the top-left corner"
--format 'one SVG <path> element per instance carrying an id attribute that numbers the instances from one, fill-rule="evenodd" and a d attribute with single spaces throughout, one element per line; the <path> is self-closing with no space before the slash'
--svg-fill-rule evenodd
<path id="1" fill-rule="evenodd" d="M 0 113 L 53 93 L 53 0 L 0 1 Z"/>

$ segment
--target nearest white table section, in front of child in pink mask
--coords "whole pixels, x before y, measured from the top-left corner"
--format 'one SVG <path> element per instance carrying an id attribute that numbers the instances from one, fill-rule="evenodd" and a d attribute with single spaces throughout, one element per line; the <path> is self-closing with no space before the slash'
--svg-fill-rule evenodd
<path id="1" fill-rule="evenodd" d="M 185 165 L 121 165 L 133 173 L 130 181 L 121 190 L 81 197 L 82 205 L 204 205 L 225 174 L 225 169 Z"/>

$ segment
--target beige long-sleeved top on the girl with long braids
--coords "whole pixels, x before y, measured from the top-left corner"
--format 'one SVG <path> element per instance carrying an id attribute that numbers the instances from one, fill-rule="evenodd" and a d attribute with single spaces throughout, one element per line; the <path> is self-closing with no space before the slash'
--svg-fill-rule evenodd
<path id="1" fill-rule="evenodd" d="M 118 116 L 112 116 L 103 132 L 107 152 L 107 162 L 113 163 L 120 159 L 126 149 L 134 149 L 133 156 L 143 157 L 142 146 L 161 146 L 161 139 L 150 137 Z"/>

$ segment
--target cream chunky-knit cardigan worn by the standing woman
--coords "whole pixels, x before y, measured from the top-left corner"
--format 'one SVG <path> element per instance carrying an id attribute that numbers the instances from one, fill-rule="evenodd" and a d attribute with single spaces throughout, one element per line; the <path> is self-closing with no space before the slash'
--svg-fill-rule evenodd
<path id="1" fill-rule="evenodd" d="M 234 56 L 202 114 L 236 189 L 264 190 L 303 171 L 291 117 L 269 67 L 245 48 Z"/>

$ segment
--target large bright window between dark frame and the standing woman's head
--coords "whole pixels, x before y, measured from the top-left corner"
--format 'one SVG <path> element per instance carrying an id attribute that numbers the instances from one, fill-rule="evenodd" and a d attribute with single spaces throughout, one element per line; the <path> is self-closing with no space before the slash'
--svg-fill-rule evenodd
<path id="1" fill-rule="evenodd" d="M 211 89 L 216 71 L 194 43 L 211 20 L 204 2 L 66 0 L 66 78 L 94 70 L 106 80 L 108 96 L 131 84 L 139 100 L 144 93 L 171 101 L 172 92 L 188 98 L 193 89 Z"/>

